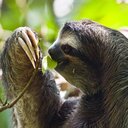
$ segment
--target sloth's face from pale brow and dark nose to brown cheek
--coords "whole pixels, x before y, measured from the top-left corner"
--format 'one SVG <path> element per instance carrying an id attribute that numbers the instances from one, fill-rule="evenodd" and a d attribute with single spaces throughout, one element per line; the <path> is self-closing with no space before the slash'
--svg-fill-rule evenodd
<path id="1" fill-rule="evenodd" d="M 60 33 L 48 52 L 57 62 L 55 70 L 68 82 L 82 90 L 95 91 L 95 73 L 92 73 L 86 64 L 83 46 L 75 33 Z"/>

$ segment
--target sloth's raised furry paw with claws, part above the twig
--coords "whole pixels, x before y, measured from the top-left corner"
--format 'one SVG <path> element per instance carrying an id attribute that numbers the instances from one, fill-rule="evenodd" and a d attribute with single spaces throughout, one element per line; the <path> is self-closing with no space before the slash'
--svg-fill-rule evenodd
<path id="1" fill-rule="evenodd" d="M 10 91 L 21 91 L 40 62 L 41 52 L 36 34 L 28 27 L 16 29 L 6 41 L 1 55 L 6 87 Z"/>

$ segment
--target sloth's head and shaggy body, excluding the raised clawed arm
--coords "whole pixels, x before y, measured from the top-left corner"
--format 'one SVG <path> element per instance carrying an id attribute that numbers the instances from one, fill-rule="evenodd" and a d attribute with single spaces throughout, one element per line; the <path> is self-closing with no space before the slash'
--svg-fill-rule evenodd
<path id="1" fill-rule="evenodd" d="M 83 96 L 64 128 L 128 127 L 128 39 L 90 20 L 66 23 L 49 48 Z"/>

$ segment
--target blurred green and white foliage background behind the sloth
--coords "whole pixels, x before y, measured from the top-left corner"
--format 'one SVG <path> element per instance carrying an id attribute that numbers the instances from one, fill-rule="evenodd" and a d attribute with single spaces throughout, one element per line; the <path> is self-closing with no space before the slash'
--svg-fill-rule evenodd
<path id="1" fill-rule="evenodd" d="M 29 26 L 39 34 L 46 53 L 66 21 L 84 18 L 114 29 L 127 28 L 128 0 L 0 0 L 0 51 L 14 29 Z M 0 70 L 2 98 L 1 74 Z M 0 128 L 11 128 L 10 113 L 0 113 Z"/>

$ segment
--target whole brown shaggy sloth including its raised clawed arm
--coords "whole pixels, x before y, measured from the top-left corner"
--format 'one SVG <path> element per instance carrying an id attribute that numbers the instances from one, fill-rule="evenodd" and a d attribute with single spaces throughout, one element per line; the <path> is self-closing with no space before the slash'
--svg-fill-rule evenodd
<path id="1" fill-rule="evenodd" d="M 128 128 L 128 39 L 91 20 L 67 22 L 48 50 L 55 70 L 83 92 L 62 101 L 50 71 L 41 72 L 38 37 L 28 27 L 8 38 L 1 54 L 3 84 L 18 96 L 36 67 L 30 88 L 13 107 L 15 128 Z"/>

